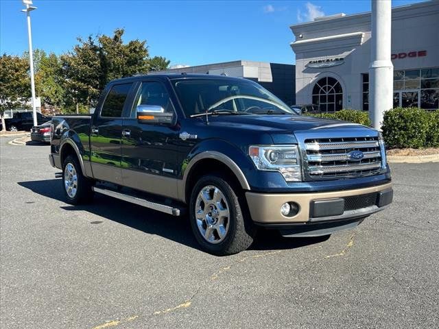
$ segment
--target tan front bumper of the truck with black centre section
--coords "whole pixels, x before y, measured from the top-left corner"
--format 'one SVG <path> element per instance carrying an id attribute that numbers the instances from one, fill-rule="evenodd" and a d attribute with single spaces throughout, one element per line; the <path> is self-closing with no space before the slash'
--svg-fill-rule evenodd
<path id="1" fill-rule="evenodd" d="M 261 226 L 274 227 L 361 219 L 389 206 L 392 197 L 392 183 L 322 193 L 246 193 L 252 220 Z M 298 213 L 283 216 L 281 206 L 285 202 L 296 203 Z"/>

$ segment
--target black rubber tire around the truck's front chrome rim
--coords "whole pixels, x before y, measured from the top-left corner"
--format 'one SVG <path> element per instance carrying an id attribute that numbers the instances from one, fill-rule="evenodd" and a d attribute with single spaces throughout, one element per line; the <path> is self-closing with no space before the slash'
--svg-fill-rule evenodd
<path id="1" fill-rule="evenodd" d="M 228 206 L 229 216 L 224 219 L 227 221 L 227 230 L 222 241 L 219 238 L 218 231 L 215 229 L 213 231 L 213 238 L 215 239 L 215 234 L 216 238 L 219 238 L 220 242 L 217 243 L 210 243 L 204 238 L 198 228 L 200 221 L 195 217 L 195 212 L 201 209 L 201 207 L 198 208 L 197 206 L 198 195 L 206 186 L 218 188 Z M 189 219 L 195 239 L 197 239 L 206 252 L 215 255 L 237 254 L 246 250 L 252 244 L 256 229 L 250 219 L 247 204 L 241 194 L 240 188 L 233 188 L 233 185 L 219 175 L 202 176 L 193 187 L 189 203 Z"/>

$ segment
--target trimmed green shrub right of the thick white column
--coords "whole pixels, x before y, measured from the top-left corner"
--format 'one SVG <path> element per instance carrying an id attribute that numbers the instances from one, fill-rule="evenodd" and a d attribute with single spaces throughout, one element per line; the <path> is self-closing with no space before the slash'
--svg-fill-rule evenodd
<path id="1" fill-rule="evenodd" d="M 436 114 L 435 114 L 436 116 Z M 427 147 L 427 134 L 437 132 L 431 120 L 434 115 L 420 108 L 394 108 L 384 113 L 383 137 L 390 148 Z M 438 117 L 436 117 L 437 120 Z"/>

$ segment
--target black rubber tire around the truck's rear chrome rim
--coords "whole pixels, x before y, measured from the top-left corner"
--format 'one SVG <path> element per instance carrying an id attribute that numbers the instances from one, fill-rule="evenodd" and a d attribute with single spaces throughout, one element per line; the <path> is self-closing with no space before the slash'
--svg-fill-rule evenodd
<path id="1" fill-rule="evenodd" d="M 66 177 L 67 171 L 66 167 L 71 164 L 76 173 L 76 190 L 73 195 L 69 195 L 67 192 L 67 183 Z M 67 178 L 69 180 L 69 178 Z M 78 204 L 86 204 L 93 200 L 93 181 L 89 180 L 84 176 L 81 170 L 80 163 L 76 156 L 67 156 L 65 158 L 64 163 L 62 164 L 62 190 L 64 191 L 64 195 L 66 196 L 67 202 L 69 204 L 78 205 Z"/>

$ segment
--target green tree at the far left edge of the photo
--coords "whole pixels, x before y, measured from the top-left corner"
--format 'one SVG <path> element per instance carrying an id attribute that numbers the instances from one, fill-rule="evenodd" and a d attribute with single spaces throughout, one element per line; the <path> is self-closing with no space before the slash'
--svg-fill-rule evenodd
<path id="1" fill-rule="evenodd" d="M 5 110 L 23 105 L 30 97 L 30 78 L 27 60 L 19 56 L 0 56 L 0 116 L 2 130 L 5 127 Z"/>

